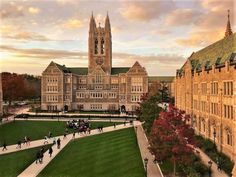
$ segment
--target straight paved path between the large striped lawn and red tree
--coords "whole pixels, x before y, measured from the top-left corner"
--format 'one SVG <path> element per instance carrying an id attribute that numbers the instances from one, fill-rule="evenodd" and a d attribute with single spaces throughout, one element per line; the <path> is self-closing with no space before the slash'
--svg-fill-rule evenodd
<path id="1" fill-rule="evenodd" d="M 136 125 L 135 125 L 136 126 Z M 142 125 L 137 125 L 137 139 L 139 144 L 139 149 L 141 152 L 142 159 L 148 158 L 148 164 L 147 164 L 147 176 L 148 177 L 163 177 L 163 174 L 161 172 L 161 169 L 158 164 L 154 163 L 154 157 L 148 150 L 148 140 L 145 135 L 145 132 L 143 130 Z"/>

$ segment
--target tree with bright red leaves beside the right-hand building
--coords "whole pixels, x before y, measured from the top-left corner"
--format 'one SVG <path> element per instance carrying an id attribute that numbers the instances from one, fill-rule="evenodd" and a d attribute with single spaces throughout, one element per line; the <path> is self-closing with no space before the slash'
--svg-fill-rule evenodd
<path id="1" fill-rule="evenodd" d="M 170 105 L 168 111 L 161 112 L 152 126 L 150 151 L 157 161 L 172 160 L 174 174 L 176 162 L 191 162 L 189 155 L 192 154 L 193 148 L 189 144 L 195 145 L 195 140 L 194 130 L 187 124 L 188 121 L 188 115 Z"/>

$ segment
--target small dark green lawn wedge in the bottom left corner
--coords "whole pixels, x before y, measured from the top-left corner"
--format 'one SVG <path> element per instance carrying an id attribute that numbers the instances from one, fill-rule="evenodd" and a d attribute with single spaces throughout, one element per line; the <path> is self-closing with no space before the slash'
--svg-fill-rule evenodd
<path id="1" fill-rule="evenodd" d="M 35 161 L 36 153 L 41 147 L 0 155 L 0 176 L 15 177 Z M 49 145 L 44 149 L 48 149 Z"/>

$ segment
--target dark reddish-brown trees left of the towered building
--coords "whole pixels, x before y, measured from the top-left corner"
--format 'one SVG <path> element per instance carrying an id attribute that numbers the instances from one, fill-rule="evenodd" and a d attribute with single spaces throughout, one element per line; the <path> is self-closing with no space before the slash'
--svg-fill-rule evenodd
<path id="1" fill-rule="evenodd" d="M 12 101 L 39 99 L 40 84 L 40 78 L 37 76 L 3 72 L 3 100 L 11 105 Z"/>

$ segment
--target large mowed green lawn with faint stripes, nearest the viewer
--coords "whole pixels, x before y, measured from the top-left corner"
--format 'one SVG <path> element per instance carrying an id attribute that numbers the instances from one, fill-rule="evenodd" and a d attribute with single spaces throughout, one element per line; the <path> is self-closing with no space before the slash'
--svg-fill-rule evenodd
<path id="1" fill-rule="evenodd" d="M 133 128 L 71 142 L 39 177 L 144 177 Z"/>

